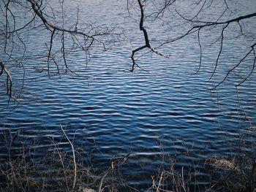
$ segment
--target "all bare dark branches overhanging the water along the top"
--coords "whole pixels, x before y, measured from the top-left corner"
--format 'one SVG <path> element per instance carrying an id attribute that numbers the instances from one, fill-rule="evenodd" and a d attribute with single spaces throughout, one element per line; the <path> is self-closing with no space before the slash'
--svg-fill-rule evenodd
<path id="1" fill-rule="evenodd" d="M 143 44 L 132 50 L 130 70 L 134 71 L 135 66 L 138 66 L 136 55 L 141 50 L 148 50 L 148 53 L 155 53 L 171 60 L 172 53 L 163 51 L 162 47 L 172 46 L 187 37 L 193 37 L 197 39 L 199 58 L 197 72 L 199 72 L 203 64 L 204 36 L 205 34 L 217 34 L 217 39 L 211 42 L 219 46 L 214 69 L 209 77 L 211 79 L 215 77 L 219 69 L 225 43 L 229 38 L 228 33 L 236 31 L 250 45 L 239 61 L 227 70 L 225 77 L 217 83 L 215 88 L 227 80 L 227 77 L 242 66 L 247 59 L 251 59 L 252 65 L 250 69 L 247 69 L 248 73 L 237 84 L 237 86 L 241 85 L 255 69 L 256 41 L 254 38 L 256 37 L 253 31 L 250 31 L 251 35 L 248 35 L 246 23 L 255 26 L 256 12 L 255 9 L 252 9 L 252 12 L 240 12 L 240 8 L 241 4 L 238 4 L 235 9 L 230 7 L 229 0 L 127 0 L 128 15 L 131 11 L 138 11 L 140 14 L 138 28 L 143 33 L 141 38 Z M 71 16 L 68 16 L 69 14 Z M 53 71 L 59 75 L 61 72 L 73 72 L 72 65 L 68 61 L 72 53 L 83 51 L 85 58 L 89 58 L 93 45 L 101 45 L 102 49 L 106 50 L 108 39 L 119 35 L 108 27 L 99 28 L 91 23 L 81 23 L 79 7 L 67 11 L 64 0 L 2 0 L 0 18 L 0 75 L 2 79 L 4 78 L 7 95 L 12 99 L 17 96 L 13 91 L 15 85 L 12 77 L 13 69 L 23 70 L 23 78 L 25 78 L 24 63 L 40 58 L 44 62 L 40 65 L 38 72 L 47 72 L 49 77 Z M 162 23 L 162 28 L 165 28 L 167 32 L 171 31 L 171 35 L 164 40 L 159 36 L 159 41 L 152 43 L 151 37 L 154 32 L 151 29 L 154 26 L 150 26 L 150 23 Z M 41 43 L 45 44 L 42 54 L 27 54 L 31 47 L 29 47 L 26 35 L 41 38 Z M 34 45 L 34 47 L 37 46 Z M 20 87 L 21 92 L 23 86 Z"/>

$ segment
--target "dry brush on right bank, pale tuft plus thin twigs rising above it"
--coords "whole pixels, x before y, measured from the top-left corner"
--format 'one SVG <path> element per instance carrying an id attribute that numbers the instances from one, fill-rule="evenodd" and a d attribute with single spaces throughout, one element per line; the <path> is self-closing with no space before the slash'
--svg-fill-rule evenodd
<path id="1" fill-rule="evenodd" d="M 236 155 L 211 156 L 206 161 L 217 191 L 256 192 L 256 127 L 241 131 L 231 145 Z"/>

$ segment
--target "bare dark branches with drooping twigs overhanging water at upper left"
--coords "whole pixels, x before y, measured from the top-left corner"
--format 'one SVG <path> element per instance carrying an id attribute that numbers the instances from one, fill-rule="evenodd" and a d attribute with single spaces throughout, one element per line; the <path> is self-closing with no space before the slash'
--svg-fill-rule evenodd
<path id="1" fill-rule="evenodd" d="M 10 98 L 15 99 L 12 91 L 12 69 L 18 67 L 24 71 L 24 62 L 41 58 L 45 61 L 45 66 L 38 71 L 47 72 L 49 77 L 53 70 L 59 75 L 61 72 L 73 72 L 67 61 L 72 52 L 82 51 L 87 62 L 94 44 L 101 45 L 102 50 L 106 50 L 108 39 L 119 35 L 108 27 L 99 28 L 91 23 L 81 23 L 79 7 L 69 10 L 64 5 L 64 0 L 0 2 L 0 75 L 6 78 L 5 87 Z M 68 14 L 72 15 L 72 20 L 68 20 Z M 30 42 L 27 41 L 29 38 L 26 37 L 28 33 L 31 37 L 40 39 L 41 44 L 45 43 L 45 50 L 41 55 L 27 54 L 28 49 L 31 49 Z M 37 45 L 33 48 L 37 49 Z"/>

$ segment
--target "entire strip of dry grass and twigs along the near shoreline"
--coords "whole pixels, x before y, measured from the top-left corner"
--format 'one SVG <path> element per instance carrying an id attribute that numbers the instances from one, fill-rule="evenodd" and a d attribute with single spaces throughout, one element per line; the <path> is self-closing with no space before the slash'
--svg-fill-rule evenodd
<path id="1" fill-rule="evenodd" d="M 89 156 L 85 157 L 83 147 L 75 148 L 75 139 L 70 139 L 61 125 L 60 129 L 67 147 L 59 146 L 52 138 L 43 158 L 35 155 L 40 148 L 37 142 L 34 146 L 26 145 L 18 134 L 1 131 L 7 156 L 1 159 L 0 191 L 256 191 L 256 126 L 243 130 L 236 146 L 230 146 L 235 155 L 211 155 L 205 160 L 209 175 L 205 186 L 199 185 L 200 172 L 196 166 L 176 170 L 173 159 L 169 166 L 161 165 L 158 174 L 152 173 L 147 189 L 128 185 L 129 180 L 122 175 L 121 167 L 129 165 L 132 152 L 113 157 L 108 169 L 99 173 Z M 166 161 L 165 157 L 162 159 Z"/>

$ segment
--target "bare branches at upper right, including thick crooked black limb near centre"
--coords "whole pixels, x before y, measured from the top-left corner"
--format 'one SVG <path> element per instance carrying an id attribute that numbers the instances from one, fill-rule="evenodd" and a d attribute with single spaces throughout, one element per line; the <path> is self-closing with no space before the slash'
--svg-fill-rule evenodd
<path id="1" fill-rule="evenodd" d="M 135 66 L 138 65 L 135 63 L 135 53 L 143 50 L 148 47 L 151 52 L 157 53 L 159 55 L 165 56 L 169 53 L 159 52 L 158 49 L 165 45 L 173 45 L 174 43 L 185 39 L 187 37 L 197 36 L 197 44 L 199 50 L 199 66 L 197 72 L 200 71 L 202 65 L 202 57 L 203 57 L 203 48 L 202 48 L 202 36 L 205 33 L 218 34 L 219 37 L 214 39 L 212 44 L 219 44 L 219 50 L 217 54 L 217 58 L 215 59 L 214 69 L 211 73 L 209 79 L 211 80 L 214 77 L 214 74 L 217 72 L 217 68 L 219 66 L 220 58 L 223 53 L 223 47 L 225 45 L 225 39 L 230 38 L 229 35 L 225 34 L 230 31 L 238 31 L 240 37 L 244 37 L 250 42 L 250 45 L 247 47 L 247 51 L 241 56 L 238 63 L 234 64 L 230 69 L 227 70 L 225 77 L 214 86 L 217 88 L 222 84 L 227 77 L 229 77 L 230 73 L 237 69 L 239 66 L 243 64 L 246 59 L 252 59 L 251 69 L 248 70 L 248 74 L 245 77 L 242 77 L 242 80 L 238 82 L 236 86 L 241 85 L 245 82 L 253 73 L 255 69 L 255 33 L 252 32 L 253 35 L 246 34 L 245 24 L 246 22 L 250 23 L 250 26 L 255 26 L 256 23 L 256 12 L 255 9 L 252 9 L 252 12 L 246 13 L 239 12 L 239 9 L 243 8 L 243 4 L 237 4 L 236 10 L 233 10 L 229 6 L 229 1 L 227 0 L 199 0 L 199 1 L 176 1 L 176 0 L 162 0 L 162 1 L 145 1 L 138 0 L 138 7 L 140 7 L 140 31 L 143 31 L 143 36 L 145 38 L 145 45 L 138 47 L 135 50 L 132 50 L 132 67 L 131 71 L 135 69 Z M 135 7 L 134 1 L 127 0 L 127 4 L 130 4 L 129 9 Z M 148 6 L 146 7 L 146 4 Z M 231 3 L 230 3 L 231 4 Z M 232 4 L 236 4 L 236 2 L 232 2 Z M 255 7 L 256 8 L 256 7 Z M 146 10 L 147 9 L 147 10 Z M 147 12 L 147 14 L 146 14 Z M 214 15 L 214 16 L 213 16 Z M 145 21 L 148 23 L 158 22 L 163 23 L 162 26 L 165 28 L 169 28 L 170 30 L 176 28 L 175 24 L 171 24 L 171 20 L 176 18 L 176 20 L 181 20 L 179 25 L 182 26 L 182 30 L 176 31 L 176 35 L 174 37 L 167 37 L 164 42 L 160 42 L 156 47 L 151 47 L 150 38 L 151 34 L 148 34 Z M 166 27 L 167 26 L 167 27 Z M 150 28 L 147 26 L 147 28 Z M 189 51 L 189 50 L 188 50 Z M 167 56 L 165 56 L 167 57 Z M 170 58 L 171 59 L 171 58 Z M 196 72 L 196 73 L 197 73 Z"/>

